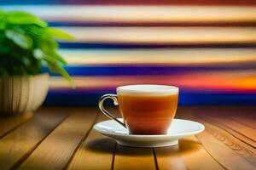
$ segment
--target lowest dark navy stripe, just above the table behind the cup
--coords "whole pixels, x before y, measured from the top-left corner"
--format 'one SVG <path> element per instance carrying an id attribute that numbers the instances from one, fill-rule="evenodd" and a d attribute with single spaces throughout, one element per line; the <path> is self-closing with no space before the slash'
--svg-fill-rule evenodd
<path id="1" fill-rule="evenodd" d="M 103 94 L 115 94 L 114 91 L 53 92 L 49 94 L 44 105 L 97 105 Z M 107 105 L 113 105 L 107 102 Z M 256 105 L 256 94 L 190 94 L 180 93 L 178 105 Z"/>

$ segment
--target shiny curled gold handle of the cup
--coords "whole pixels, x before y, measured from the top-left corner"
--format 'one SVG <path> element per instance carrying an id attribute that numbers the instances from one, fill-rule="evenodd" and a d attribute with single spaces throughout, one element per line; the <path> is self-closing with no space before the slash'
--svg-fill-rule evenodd
<path id="1" fill-rule="evenodd" d="M 115 122 L 118 122 L 119 124 L 121 124 L 122 126 L 125 126 L 125 122 L 121 122 L 119 121 L 115 116 L 113 116 L 111 113 L 109 113 L 103 106 L 103 103 L 105 101 L 105 99 L 113 99 L 113 105 L 119 105 L 118 103 L 118 99 L 117 99 L 117 95 L 116 94 L 105 94 L 101 97 L 101 99 L 99 100 L 98 106 L 100 108 L 100 110 L 102 111 L 102 113 L 106 116 L 108 116 L 110 119 L 113 119 Z"/>

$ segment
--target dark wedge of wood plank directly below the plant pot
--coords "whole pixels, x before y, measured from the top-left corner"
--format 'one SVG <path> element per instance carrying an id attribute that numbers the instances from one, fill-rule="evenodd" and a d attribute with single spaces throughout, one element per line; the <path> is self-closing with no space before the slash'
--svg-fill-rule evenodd
<path id="1" fill-rule="evenodd" d="M 22 116 L 12 116 L 12 117 L 1 117 L 0 118 L 0 139 L 3 138 L 7 133 L 14 130 L 16 127 L 22 123 L 28 121 L 32 118 L 32 112 L 27 113 Z"/>

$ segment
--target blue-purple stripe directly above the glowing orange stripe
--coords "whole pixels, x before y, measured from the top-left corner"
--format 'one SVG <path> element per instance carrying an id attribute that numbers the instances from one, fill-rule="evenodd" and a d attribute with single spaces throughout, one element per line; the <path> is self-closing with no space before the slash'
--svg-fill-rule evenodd
<path id="1" fill-rule="evenodd" d="M 198 65 L 198 66 L 170 66 L 170 65 L 83 65 L 65 66 L 71 76 L 147 76 L 147 75 L 182 75 L 205 71 L 247 71 L 255 69 L 256 63 L 237 65 Z M 60 76 L 47 68 L 51 76 Z"/>

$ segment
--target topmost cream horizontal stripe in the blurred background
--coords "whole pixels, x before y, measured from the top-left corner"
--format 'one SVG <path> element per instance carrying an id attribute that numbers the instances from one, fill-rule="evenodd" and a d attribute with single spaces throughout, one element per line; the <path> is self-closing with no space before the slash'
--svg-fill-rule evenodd
<path id="1" fill-rule="evenodd" d="M 21 9 L 37 14 L 43 20 L 61 22 L 256 22 L 256 7 L 253 6 L 12 5 L 2 8 Z"/>

